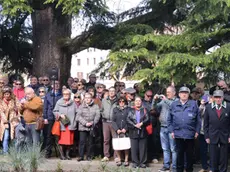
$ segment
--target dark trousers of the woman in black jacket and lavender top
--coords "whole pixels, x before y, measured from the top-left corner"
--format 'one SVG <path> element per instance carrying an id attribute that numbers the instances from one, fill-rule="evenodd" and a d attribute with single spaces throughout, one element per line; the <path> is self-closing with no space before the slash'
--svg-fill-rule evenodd
<path id="1" fill-rule="evenodd" d="M 136 165 L 147 161 L 147 138 L 131 139 L 132 162 Z"/>

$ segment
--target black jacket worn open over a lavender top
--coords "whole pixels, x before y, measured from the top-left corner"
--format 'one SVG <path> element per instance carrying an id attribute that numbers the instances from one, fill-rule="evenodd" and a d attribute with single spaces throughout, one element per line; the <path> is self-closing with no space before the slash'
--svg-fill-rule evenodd
<path id="1" fill-rule="evenodd" d="M 129 137 L 132 139 L 135 138 L 146 138 L 148 133 L 146 131 L 146 126 L 149 124 L 149 114 L 147 110 L 144 108 L 140 109 L 140 122 L 143 122 L 143 126 L 141 129 L 135 127 L 137 124 L 136 120 L 136 110 L 134 108 L 130 108 L 128 117 L 127 117 L 127 124 L 129 128 Z"/>

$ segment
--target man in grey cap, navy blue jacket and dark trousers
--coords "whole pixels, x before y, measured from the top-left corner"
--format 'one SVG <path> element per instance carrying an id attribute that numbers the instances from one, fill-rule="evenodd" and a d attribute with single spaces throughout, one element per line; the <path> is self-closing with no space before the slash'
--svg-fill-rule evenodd
<path id="1" fill-rule="evenodd" d="M 193 171 L 194 139 L 200 133 L 201 121 L 199 108 L 194 100 L 189 100 L 190 89 L 181 87 L 179 100 L 171 104 L 168 115 L 168 131 L 176 141 L 177 172 L 184 171 L 184 155 L 186 155 L 186 171 Z"/>

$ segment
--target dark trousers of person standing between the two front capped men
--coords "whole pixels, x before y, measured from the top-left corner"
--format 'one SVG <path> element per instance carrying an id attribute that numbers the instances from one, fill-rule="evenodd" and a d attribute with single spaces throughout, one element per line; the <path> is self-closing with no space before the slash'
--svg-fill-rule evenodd
<path id="1" fill-rule="evenodd" d="M 199 135 L 199 143 L 200 143 L 200 157 L 202 169 L 208 169 L 208 144 L 205 141 L 204 135 Z"/>

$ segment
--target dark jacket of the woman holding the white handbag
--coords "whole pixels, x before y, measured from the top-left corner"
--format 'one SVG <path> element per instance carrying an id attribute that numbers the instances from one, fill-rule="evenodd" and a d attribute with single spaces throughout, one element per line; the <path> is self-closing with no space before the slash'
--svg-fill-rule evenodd
<path id="1" fill-rule="evenodd" d="M 129 113 L 129 109 L 129 107 L 121 109 L 119 106 L 113 109 L 112 126 L 115 131 L 123 128 L 126 131 L 128 130 L 127 116 Z"/>

